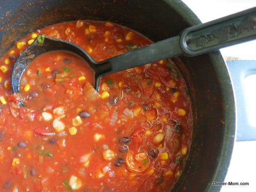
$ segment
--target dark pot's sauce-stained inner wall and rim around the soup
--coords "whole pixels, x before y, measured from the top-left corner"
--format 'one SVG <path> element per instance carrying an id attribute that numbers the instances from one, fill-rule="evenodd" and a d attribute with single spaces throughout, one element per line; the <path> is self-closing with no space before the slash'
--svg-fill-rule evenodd
<path id="1" fill-rule="evenodd" d="M 199 22 L 179 0 L 0 2 L 0 15 L 3 17 L 0 20 L 0 55 L 23 35 L 62 21 L 110 20 L 135 29 L 153 41 L 177 35 Z M 227 69 L 219 57 L 218 53 L 194 58 L 180 57 L 184 64 L 178 64 L 178 67 L 188 83 L 193 101 L 194 129 L 186 167 L 172 191 L 218 191 L 220 187 L 212 187 L 212 181 L 224 180 L 235 130 L 235 114 L 227 111 L 235 109 Z M 219 78 L 220 71 L 224 79 Z M 225 92 L 225 87 L 230 91 Z M 226 108 L 227 105 L 230 107 Z M 227 134 L 231 138 L 227 139 Z"/>

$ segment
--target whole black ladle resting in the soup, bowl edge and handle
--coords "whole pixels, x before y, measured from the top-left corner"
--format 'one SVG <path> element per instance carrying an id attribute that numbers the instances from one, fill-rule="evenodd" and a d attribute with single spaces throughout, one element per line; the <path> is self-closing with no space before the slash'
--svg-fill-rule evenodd
<path id="1" fill-rule="evenodd" d="M 87 52 L 69 41 L 38 35 L 15 61 L 11 74 L 12 91 L 19 92 L 21 76 L 31 61 L 52 50 L 67 50 L 84 58 L 95 72 L 93 86 L 99 90 L 100 78 L 110 73 L 178 55 L 200 55 L 253 39 L 256 39 L 256 7 L 189 27 L 175 37 L 100 62 L 93 61 Z"/>

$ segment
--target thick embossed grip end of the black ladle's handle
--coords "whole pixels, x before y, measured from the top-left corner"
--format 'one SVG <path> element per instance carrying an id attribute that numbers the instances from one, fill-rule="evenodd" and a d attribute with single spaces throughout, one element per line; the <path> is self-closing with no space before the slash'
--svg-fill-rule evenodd
<path id="1" fill-rule="evenodd" d="M 187 56 L 200 55 L 256 39 L 256 7 L 181 32 L 180 46 Z"/>

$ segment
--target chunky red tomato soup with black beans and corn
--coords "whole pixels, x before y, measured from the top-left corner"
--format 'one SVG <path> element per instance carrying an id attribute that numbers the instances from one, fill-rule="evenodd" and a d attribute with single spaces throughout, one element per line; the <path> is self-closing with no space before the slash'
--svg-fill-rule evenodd
<path id="1" fill-rule="evenodd" d="M 76 43 L 96 61 L 151 43 L 131 29 L 91 20 L 47 26 L 18 43 L 27 44 L 35 34 Z M 67 52 L 50 52 L 36 58 L 23 74 L 23 108 L 16 104 L 9 85 L 13 62 L 27 46 L 18 43 L 0 58 L 7 67 L 0 72 L 0 96 L 6 101 L 0 98 L 4 191 L 164 192 L 172 188 L 182 172 L 192 134 L 191 101 L 172 60 L 104 76 L 99 95 L 92 97 L 88 94 L 95 92 L 88 82 L 93 76 L 83 61 Z M 54 70 L 67 78 L 56 81 Z M 79 81 L 81 76 L 85 78 Z M 46 89 L 45 84 L 49 84 Z M 37 96 L 29 96 L 35 90 Z M 76 118 L 79 114 L 82 117 Z M 53 126 L 55 119 L 58 128 Z"/>

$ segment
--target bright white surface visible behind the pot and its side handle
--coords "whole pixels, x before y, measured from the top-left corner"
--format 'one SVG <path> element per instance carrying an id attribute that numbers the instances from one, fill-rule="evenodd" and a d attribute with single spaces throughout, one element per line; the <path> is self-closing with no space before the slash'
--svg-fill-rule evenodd
<path id="1" fill-rule="evenodd" d="M 183 2 L 203 23 L 256 6 L 256 0 L 183 0 Z M 241 60 L 256 60 L 255 50 L 256 40 L 221 49 L 221 53 Z M 256 81 L 256 78 L 253 79 Z M 252 81 L 249 83 L 254 86 L 256 84 Z M 254 94 L 252 98 L 256 98 L 256 92 L 251 94 Z M 255 119 L 255 111 L 252 114 Z M 235 142 L 224 182 L 248 182 L 249 186 L 222 186 L 221 192 L 256 192 L 256 141 Z"/>

